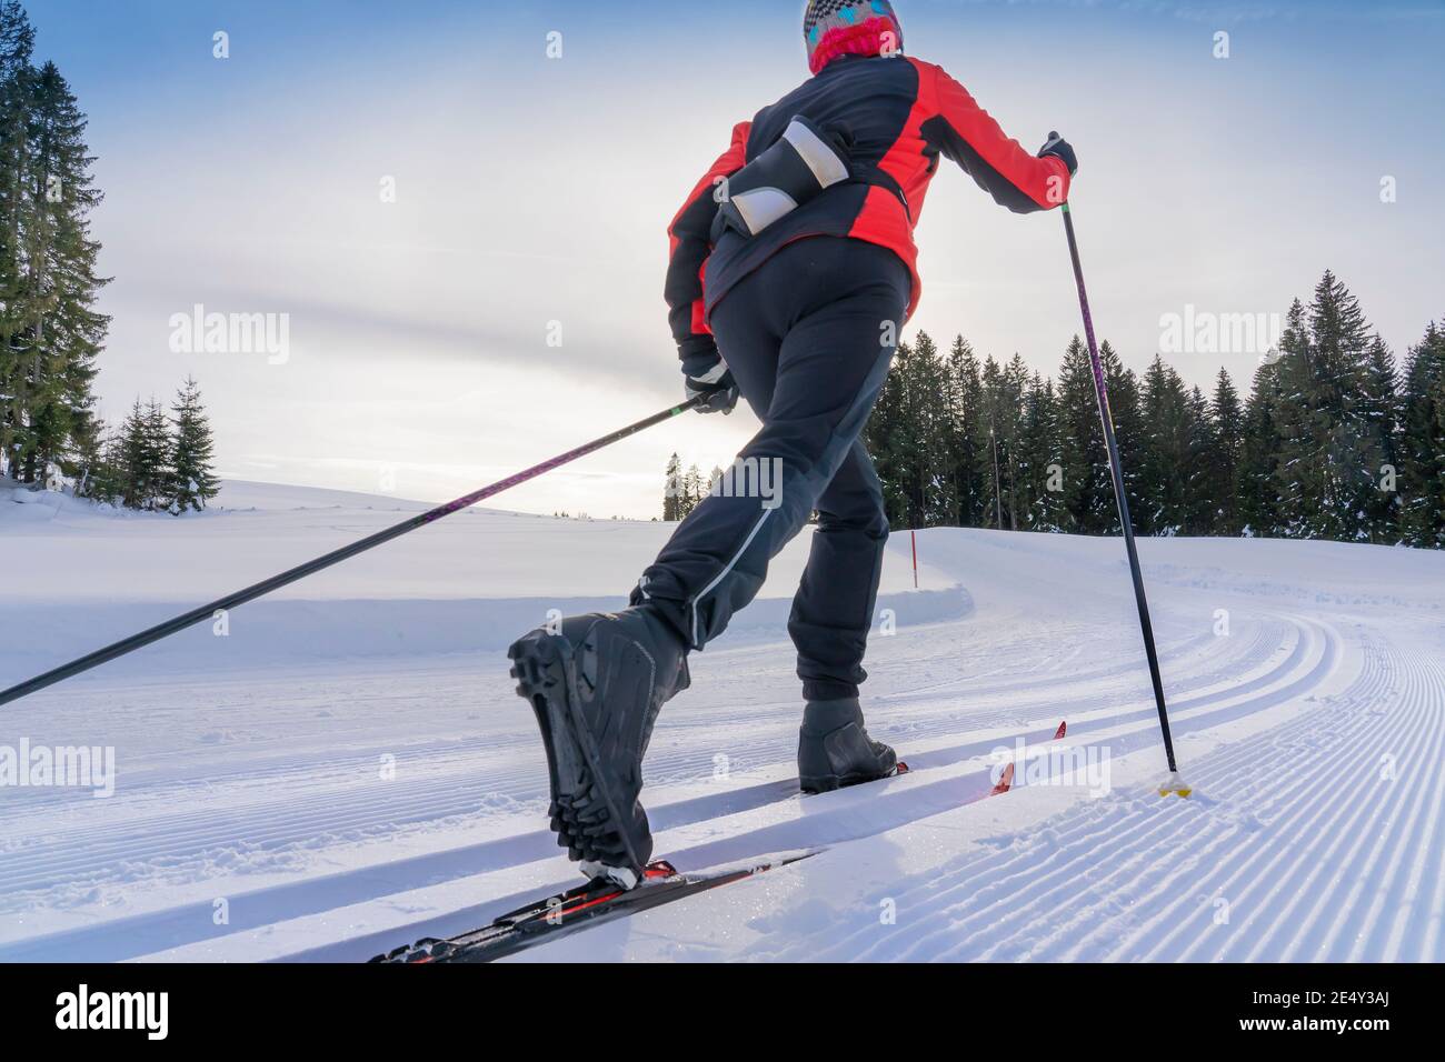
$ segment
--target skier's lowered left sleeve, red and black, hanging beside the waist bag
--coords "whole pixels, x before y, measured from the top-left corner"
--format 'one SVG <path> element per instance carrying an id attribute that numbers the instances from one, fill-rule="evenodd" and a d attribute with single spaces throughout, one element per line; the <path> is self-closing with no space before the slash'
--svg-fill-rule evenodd
<path id="1" fill-rule="evenodd" d="M 733 127 L 733 143 L 698 181 L 682 210 L 668 225 L 670 246 L 663 298 L 668 301 L 668 322 L 672 325 L 672 338 L 678 341 L 678 357 L 683 361 L 683 371 L 689 370 L 689 361 L 717 357 L 717 344 L 704 319 L 702 266 L 712 253 L 709 233 L 712 218 L 718 212 L 714 198 L 717 181 L 731 176 L 747 162 L 747 134 L 751 129 L 750 121 Z"/>

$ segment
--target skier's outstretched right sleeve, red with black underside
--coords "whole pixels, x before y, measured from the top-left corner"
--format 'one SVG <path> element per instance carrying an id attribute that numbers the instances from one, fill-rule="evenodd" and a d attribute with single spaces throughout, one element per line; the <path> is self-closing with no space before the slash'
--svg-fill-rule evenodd
<path id="1" fill-rule="evenodd" d="M 1014 214 L 1051 210 L 1069 197 L 1069 166 L 1055 155 L 1036 157 L 1010 139 L 962 85 L 932 68 L 938 116 L 923 136 L 957 162 L 994 202 Z"/>

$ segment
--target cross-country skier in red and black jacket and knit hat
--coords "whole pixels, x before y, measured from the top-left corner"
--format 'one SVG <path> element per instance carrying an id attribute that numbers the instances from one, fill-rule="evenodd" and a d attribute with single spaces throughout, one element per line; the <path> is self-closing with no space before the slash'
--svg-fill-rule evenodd
<path id="1" fill-rule="evenodd" d="M 629 608 L 509 650 L 546 744 L 552 829 L 587 876 L 624 887 L 652 857 L 637 795 L 659 709 L 814 510 L 788 621 L 806 701 L 799 780 L 816 792 L 896 772 L 858 707 L 889 533 L 860 433 L 918 305 L 913 227 L 939 156 L 1019 214 L 1064 202 L 1077 169 L 1062 139 L 1030 155 L 948 74 L 905 56 L 889 0 L 811 0 L 803 39 L 812 78 L 734 127 L 668 230 L 686 393 L 724 413 L 741 393 L 763 426 Z"/>

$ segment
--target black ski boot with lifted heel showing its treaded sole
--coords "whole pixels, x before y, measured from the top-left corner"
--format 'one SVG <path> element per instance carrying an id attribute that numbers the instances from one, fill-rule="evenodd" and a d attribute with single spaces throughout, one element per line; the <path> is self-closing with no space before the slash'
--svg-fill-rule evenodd
<path id="1" fill-rule="evenodd" d="M 558 844 L 588 877 L 631 889 L 652 858 L 642 757 L 663 702 L 688 688 L 682 637 L 639 605 L 533 630 L 507 656 L 542 728 Z"/>

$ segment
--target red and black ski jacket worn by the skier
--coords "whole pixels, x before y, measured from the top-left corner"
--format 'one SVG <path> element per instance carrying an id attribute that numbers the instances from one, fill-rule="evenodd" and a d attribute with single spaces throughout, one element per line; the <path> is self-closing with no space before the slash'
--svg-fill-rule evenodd
<path id="1" fill-rule="evenodd" d="M 834 185 L 751 238 L 727 230 L 714 246 L 717 184 L 770 147 L 798 114 L 845 129 L 854 165 L 871 179 Z M 1061 159 L 1035 157 L 962 85 L 920 59 L 842 56 L 737 124 L 733 143 L 668 227 L 665 298 L 681 355 L 711 348 L 708 312 L 733 285 L 779 247 L 809 236 L 847 236 L 894 251 L 913 275 L 912 316 L 920 295 L 913 227 L 939 155 L 1014 212 L 1049 210 L 1068 198 L 1069 172 Z"/>

